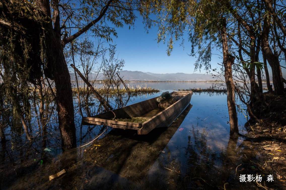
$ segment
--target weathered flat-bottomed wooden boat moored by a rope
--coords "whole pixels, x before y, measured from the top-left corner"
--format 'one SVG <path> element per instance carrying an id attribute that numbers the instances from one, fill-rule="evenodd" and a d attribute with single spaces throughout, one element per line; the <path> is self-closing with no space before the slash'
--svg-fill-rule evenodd
<path id="1" fill-rule="evenodd" d="M 166 109 L 158 108 L 159 103 L 156 101 L 157 97 L 155 97 L 96 116 L 83 117 L 82 123 L 133 129 L 137 130 L 139 135 L 145 135 L 154 128 L 168 127 L 172 124 L 190 103 L 193 92 L 174 91 L 171 94 L 176 102 Z M 128 122 L 128 119 L 131 121 L 132 119 L 139 120 L 139 122 Z"/>

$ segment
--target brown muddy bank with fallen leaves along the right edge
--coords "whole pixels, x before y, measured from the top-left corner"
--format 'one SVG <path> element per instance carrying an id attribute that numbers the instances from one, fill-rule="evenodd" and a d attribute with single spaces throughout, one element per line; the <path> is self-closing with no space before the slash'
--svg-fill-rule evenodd
<path id="1" fill-rule="evenodd" d="M 257 173 L 264 175 L 266 181 L 269 174 L 273 182 L 261 183 L 260 188 L 286 189 L 286 97 L 273 93 L 264 93 L 268 104 L 262 110 L 260 122 L 249 121 L 246 140 L 251 142 L 249 148 L 257 151 L 257 159 L 245 163 L 253 165 Z"/>

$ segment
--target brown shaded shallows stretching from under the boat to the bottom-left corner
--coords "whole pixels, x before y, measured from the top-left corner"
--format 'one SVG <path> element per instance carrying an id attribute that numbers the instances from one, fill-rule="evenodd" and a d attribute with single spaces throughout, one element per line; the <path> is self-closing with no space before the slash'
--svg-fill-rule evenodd
<path id="1" fill-rule="evenodd" d="M 27 162 L 21 165 L 23 175 L 16 174 L 11 181 L 2 181 L 3 189 L 37 187 L 70 189 L 109 189 L 131 187 L 147 175 L 162 149 L 166 147 L 184 118 L 189 105 L 168 128 L 157 128 L 147 135 L 133 130 L 111 130 L 96 145 L 87 147 L 82 157 L 78 151 L 67 151 L 52 159 L 45 166 Z M 49 175 L 65 169 L 67 173 L 48 181 Z M 10 173 L 13 175 L 13 171 Z M 9 175 L 5 176 L 9 178 Z"/>

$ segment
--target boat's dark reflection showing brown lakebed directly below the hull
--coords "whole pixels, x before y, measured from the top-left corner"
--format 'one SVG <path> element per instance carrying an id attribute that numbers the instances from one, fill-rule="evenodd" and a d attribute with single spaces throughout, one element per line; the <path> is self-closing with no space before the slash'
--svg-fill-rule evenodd
<path id="1" fill-rule="evenodd" d="M 101 146 L 94 146 L 84 156 L 84 159 L 96 161 L 96 165 L 113 171 L 121 177 L 133 182 L 140 181 L 148 173 L 150 166 L 162 153 L 186 115 L 186 110 L 168 128 L 158 128 L 147 135 L 138 135 L 134 130 L 112 130 L 104 138 L 96 142 Z M 96 176 L 91 175 L 92 183 L 87 187 L 96 187 Z M 118 180 L 105 183 L 118 183 Z"/>

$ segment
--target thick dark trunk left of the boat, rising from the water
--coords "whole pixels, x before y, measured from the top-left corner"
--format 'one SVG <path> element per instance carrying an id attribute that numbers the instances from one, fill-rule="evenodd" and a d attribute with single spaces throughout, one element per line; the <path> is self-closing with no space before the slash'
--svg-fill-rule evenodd
<path id="1" fill-rule="evenodd" d="M 76 128 L 74 124 L 74 105 L 72 99 L 72 85 L 69 70 L 63 55 L 61 32 L 59 27 L 58 1 L 53 1 L 53 23 L 47 30 L 51 36 L 46 37 L 48 52 L 47 67 L 52 80 L 55 81 L 57 115 L 63 150 L 76 147 Z M 36 5 L 49 17 L 51 16 L 49 0 L 36 0 Z M 52 23 L 52 22 L 51 22 Z"/>

